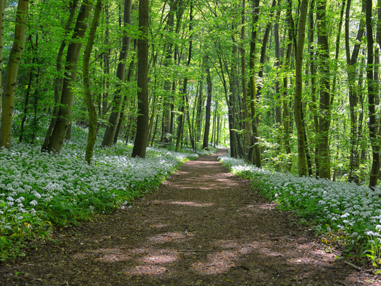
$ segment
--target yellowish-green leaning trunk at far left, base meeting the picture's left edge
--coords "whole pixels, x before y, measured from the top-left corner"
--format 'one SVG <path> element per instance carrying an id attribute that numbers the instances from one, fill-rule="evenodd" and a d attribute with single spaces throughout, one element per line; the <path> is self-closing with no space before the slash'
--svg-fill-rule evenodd
<path id="1" fill-rule="evenodd" d="M 1 112 L 0 147 L 5 146 L 7 149 L 10 149 L 13 102 L 15 99 L 17 72 L 19 70 L 21 55 L 24 51 L 28 6 L 28 0 L 19 0 L 16 13 L 15 40 L 13 41 L 12 49 L 10 50 L 6 71 L 4 98 Z"/>

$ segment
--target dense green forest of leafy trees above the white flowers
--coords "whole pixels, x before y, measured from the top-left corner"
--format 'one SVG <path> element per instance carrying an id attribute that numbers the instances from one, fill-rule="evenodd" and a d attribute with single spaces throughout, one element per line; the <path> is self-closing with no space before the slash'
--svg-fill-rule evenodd
<path id="1" fill-rule="evenodd" d="M 98 134 L 105 148 L 134 142 L 139 157 L 152 144 L 229 144 L 257 167 L 378 184 L 379 2 L 0 0 L 0 10 L 1 146 L 58 153 L 80 124 L 89 164 Z"/>

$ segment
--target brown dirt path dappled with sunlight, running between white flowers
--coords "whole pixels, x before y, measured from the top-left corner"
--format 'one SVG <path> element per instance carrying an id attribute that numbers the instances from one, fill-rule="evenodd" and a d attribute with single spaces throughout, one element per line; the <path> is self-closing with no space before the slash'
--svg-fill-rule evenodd
<path id="1" fill-rule="evenodd" d="M 55 230 L 0 264 L 0 285 L 381 285 L 230 174 L 224 152 L 123 210 Z"/>

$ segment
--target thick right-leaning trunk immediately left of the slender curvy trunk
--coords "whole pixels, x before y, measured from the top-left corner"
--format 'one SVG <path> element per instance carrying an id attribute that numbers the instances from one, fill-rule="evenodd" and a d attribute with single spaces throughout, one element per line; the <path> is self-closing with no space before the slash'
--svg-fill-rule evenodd
<path id="1" fill-rule="evenodd" d="M 77 76 L 78 59 L 80 56 L 80 48 L 82 46 L 80 39 L 85 36 L 91 7 L 92 4 L 89 0 L 82 3 L 77 18 L 76 28 L 74 28 L 73 37 L 67 49 L 67 64 L 65 67 L 64 83 L 62 85 L 60 110 L 55 121 L 51 139 L 48 143 L 48 152 L 60 153 L 67 130 L 71 124 L 73 108 L 72 85 L 75 83 Z"/>

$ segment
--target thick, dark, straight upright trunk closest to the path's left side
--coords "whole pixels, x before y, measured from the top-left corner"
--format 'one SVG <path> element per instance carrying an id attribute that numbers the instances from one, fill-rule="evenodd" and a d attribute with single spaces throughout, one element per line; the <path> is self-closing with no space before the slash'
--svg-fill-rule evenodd
<path id="1" fill-rule="evenodd" d="M 139 1 L 139 31 L 138 40 L 138 118 L 136 136 L 132 157 L 145 158 L 148 141 L 148 121 L 150 108 L 148 103 L 148 23 L 149 0 Z"/>

